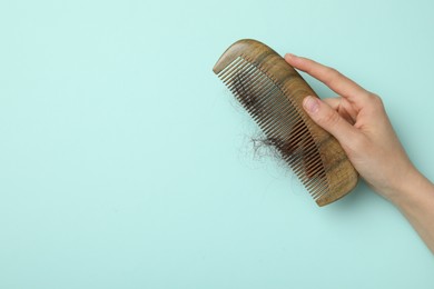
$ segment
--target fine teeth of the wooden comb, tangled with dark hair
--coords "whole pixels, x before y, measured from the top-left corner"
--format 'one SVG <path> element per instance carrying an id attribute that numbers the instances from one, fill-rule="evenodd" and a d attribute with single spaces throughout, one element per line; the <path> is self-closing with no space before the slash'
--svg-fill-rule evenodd
<path id="1" fill-rule="evenodd" d="M 317 200 L 329 183 L 303 114 L 257 64 L 237 57 L 217 74 Z"/>

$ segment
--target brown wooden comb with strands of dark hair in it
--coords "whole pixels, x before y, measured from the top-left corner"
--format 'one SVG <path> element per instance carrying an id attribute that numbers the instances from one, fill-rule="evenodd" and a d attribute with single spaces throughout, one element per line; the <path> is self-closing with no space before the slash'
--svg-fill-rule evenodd
<path id="1" fill-rule="evenodd" d="M 318 206 L 344 197 L 356 186 L 358 173 L 339 142 L 303 109 L 303 99 L 316 93 L 273 49 L 256 40 L 239 40 L 225 51 L 213 71 Z"/>

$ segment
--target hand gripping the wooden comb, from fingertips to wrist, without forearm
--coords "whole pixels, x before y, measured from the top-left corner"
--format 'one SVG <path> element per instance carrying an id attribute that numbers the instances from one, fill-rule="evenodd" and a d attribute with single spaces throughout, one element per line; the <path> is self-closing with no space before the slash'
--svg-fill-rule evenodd
<path id="1" fill-rule="evenodd" d="M 336 98 L 323 100 L 306 97 L 304 108 L 317 124 L 339 141 L 355 169 L 375 191 L 394 200 L 406 190 L 412 178 L 420 177 L 378 96 L 310 59 L 286 54 L 285 60 L 338 93 Z"/>

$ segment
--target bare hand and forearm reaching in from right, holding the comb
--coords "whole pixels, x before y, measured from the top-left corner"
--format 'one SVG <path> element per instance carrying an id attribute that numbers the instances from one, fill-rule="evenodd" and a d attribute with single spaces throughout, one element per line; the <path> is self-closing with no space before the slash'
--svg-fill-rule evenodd
<path id="1" fill-rule="evenodd" d="M 285 60 L 338 94 L 306 97 L 304 109 L 339 141 L 362 178 L 402 211 L 434 253 L 434 185 L 408 159 L 382 99 L 333 68 L 290 53 Z"/>

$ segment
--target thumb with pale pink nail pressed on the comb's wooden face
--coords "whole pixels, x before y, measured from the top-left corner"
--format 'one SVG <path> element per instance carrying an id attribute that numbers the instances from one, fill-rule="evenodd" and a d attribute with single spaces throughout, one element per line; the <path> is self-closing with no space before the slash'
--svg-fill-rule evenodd
<path id="1" fill-rule="evenodd" d="M 357 130 L 320 99 L 306 97 L 303 100 L 303 108 L 316 124 L 332 133 L 341 144 L 355 139 Z"/>

